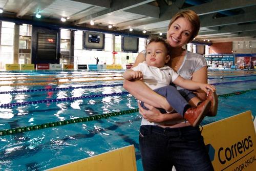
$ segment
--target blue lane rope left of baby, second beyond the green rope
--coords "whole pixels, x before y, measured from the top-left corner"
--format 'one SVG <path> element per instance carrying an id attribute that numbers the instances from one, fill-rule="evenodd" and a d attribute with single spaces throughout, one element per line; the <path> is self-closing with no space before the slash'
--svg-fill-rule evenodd
<path id="1" fill-rule="evenodd" d="M 96 89 L 101 87 L 116 87 L 123 86 L 123 84 L 101 84 L 93 86 L 80 86 L 80 87 L 68 87 L 68 88 L 52 88 L 52 89 L 31 89 L 31 90 L 18 90 L 18 91 L 6 91 L 0 92 L 0 94 L 16 94 L 16 93 L 29 93 L 29 92 L 48 92 L 48 91 L 62 91 L 62 90 L 73 90 L 73 89 Z"/>

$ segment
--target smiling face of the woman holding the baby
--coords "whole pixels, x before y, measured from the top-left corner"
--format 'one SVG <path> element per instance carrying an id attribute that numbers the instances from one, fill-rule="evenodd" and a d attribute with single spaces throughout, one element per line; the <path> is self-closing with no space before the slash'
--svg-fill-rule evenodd
<path id="1" fill-rule="evenodd" d="M 183 45 L 187 44 L 192 33 L 193 26 L 191 23 L 186 18 L 179 17 L 170 25 L 166 38 L 171 47 L 181 48 Z"/>

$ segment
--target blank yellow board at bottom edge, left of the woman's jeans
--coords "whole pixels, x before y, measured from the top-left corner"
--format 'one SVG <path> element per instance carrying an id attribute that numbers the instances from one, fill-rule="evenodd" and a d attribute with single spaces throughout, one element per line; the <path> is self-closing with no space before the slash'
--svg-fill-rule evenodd
<path id="1" fill-rule="evenodd" d="M 51 171 L 136 171 L 134 145 L 49 169 Z"/>

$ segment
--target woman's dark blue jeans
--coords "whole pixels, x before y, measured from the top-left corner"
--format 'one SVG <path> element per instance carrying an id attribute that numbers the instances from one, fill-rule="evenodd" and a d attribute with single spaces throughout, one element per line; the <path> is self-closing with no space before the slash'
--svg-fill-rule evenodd
<path id="1" fill-rule="evenodd" d="M 140 152 L 145 171 L 214 170 L 199 127 L 140 126 Z"/>

